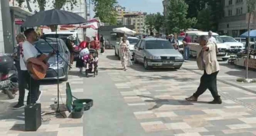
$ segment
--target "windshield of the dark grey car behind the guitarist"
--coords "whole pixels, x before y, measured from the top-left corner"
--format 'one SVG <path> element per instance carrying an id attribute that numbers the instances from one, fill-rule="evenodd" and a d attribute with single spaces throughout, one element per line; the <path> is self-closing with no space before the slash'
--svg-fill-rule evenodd
<path id="1" fill-rule="evenodd" d="M 57 44 L 56 41 L 48 41 L 48 43 L 55 49 L 57 50 Z M 53 50 L 53 48 L 51 48 L 48 43 L 46 43 L 45 41 L 37 41 L 35 43 L 35 46 L 38 48 L 38 50 L 40 50 L 43 53 L 49 53 Z M 61 43 L 60 41 L 58 41 L 58 50 L 60 53 L 63 52 L 62 47 L 61 47 Z"/>

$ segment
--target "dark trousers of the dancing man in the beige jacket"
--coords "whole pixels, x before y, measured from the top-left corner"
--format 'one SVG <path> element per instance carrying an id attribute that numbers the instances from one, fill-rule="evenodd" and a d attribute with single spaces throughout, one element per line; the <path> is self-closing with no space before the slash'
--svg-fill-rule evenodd
<path id="1" fill-rule="evenodd" d="M 214 99 L 220 97 L 218 95 L 218 90 L 217 90 L 218 73 L 219 71 L 214 72 L 211 75 L 207 75 L 206 71 L 204 71 L 203 76 L 200 78 L 200 85 L 197 88 L 197 91 L 193 94 L 193 96 L 197 98 L 200 95 L 202 95 L 207 89 L 209 89 Z"/>

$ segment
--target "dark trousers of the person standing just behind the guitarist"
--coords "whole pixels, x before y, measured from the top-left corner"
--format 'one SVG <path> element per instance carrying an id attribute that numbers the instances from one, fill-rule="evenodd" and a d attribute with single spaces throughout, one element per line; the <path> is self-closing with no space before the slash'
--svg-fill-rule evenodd
<path id="1" fill-rule="evenodd" d="M 19 83 L 19 102 L 24 103 L 25 89 L 27 88 L 25 79 L 25 70 L 18 69 L 18 83 Z"/>

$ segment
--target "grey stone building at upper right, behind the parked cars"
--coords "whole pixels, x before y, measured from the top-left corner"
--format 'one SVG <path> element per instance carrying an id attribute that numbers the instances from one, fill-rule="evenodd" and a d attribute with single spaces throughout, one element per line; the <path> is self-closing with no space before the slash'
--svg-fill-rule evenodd
<path id="1" fill-rule="evenodd" d="M 247 31 L 248 8 L 247 0 L 222 0 L 223 14 L 219 22 L 219 33 L 238 37 Z M 251 20 L 251 28 L 256 29 L 255 15 Z"/>

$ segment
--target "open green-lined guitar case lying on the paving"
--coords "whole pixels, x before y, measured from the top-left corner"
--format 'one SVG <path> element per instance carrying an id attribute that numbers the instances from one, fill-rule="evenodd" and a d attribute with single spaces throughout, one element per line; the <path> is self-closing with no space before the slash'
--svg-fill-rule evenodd
<path id="1" fill-rule="evenodd" d="M 89 110 L 93 106 L 92 99 L 78 99 L 74 97 L 69 82 L 66 83 L 66 97 L 66 107 L 71 112 L 72 118 L 81 118 L 84 111 Z"/>

